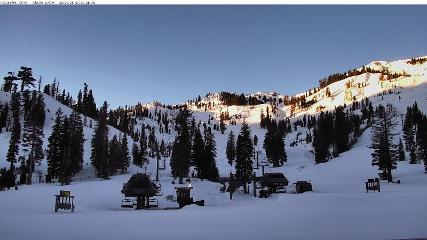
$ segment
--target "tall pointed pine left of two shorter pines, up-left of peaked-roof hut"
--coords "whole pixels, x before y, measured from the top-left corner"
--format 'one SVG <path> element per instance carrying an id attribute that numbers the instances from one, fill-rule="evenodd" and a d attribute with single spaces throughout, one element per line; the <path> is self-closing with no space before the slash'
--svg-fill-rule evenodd
<path id="1" fill-rule="evenodd" d="M 92 153 L 90 157 L 92 166 L 96 169 L 96 175 L 104 179 L 108 179 L 111 176 L 108 158 L 107 114 L 107 102 L 104 102 L 92 137 Z"/>

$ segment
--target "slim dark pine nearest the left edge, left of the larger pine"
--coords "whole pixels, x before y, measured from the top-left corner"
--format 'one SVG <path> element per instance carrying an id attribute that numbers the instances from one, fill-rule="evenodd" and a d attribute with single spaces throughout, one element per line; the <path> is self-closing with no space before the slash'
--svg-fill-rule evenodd
<path id="1" fill-rule="evenodd" d="M 15 171 L 14 163 L 16 163 L 19 152 L 19 143 L 21 142 L 21 123 L 20 123 L 20 94 L 12 93 L 10 107 L 12 110 L 12 134 L 9 141 L 9 149 L 7 151 L 6 160 L 10 162 L 9 171 Z"/>

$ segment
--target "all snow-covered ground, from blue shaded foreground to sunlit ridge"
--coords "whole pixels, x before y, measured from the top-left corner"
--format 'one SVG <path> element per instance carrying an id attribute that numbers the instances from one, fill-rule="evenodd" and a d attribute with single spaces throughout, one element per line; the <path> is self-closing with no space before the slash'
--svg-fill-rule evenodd
<path id="1" fill-rule="evenodd" d="M 373 62 L 372 68 L 386 67 L 390 71 L 412 74 L 392 82 L 378 81 L 378 74 L 362 74 L 336 82 L 329 86 L 332 97 L 325 97 L 322 91 L 311 95 L 318 102 L 308 109 L 299 109 L 297 116 L 316 114 L 317 106 L 326 109 L 346 103 L 345 83 L 353 82 L 352 96 L 357 100 L 369 97 L 374 106 L 392 103 L 399 114 L 417 101 L 421 111 L 427 113 L 427 63 L 408 65 L 406 60 L 395 62 Z M 358 89 L 357 83 L 366 87 Z M 379 93 L 393 89 L 394 93 L 379 96 Z M 399 92 L 399 94 L 397 94 Z M 273 94 L 273 93 L 271 93 Z M 270 94 L 270 95 L 271 95 Z M 264 96 L 269 94 L 257 93 Z M 281 96 L 281 95 L 279 95 Z M 7 102 L 10 95 L 0 93 L 0 102 Z M 45 125 L 45 147 L 51 133 L 54 113 L 61 107 L 65 114 L 71 109 L 61 105 L 53 98 L 45 96 L 48 109 Z M 192 107 L 196 122 L 208 122 L 210 116 L 218 124 L 221 112 L 242 116 L 253 135 L 257 135 L 257 148 L 264 156 L 262 142 L 265 130 L 259 127 L 261 111 L 266 113 L 270 104 L 257 106 L 224 106 L 218 101 L 218 94 L 211 94 L 203 101 L 214 102 L 215 106 L 207 111 Z M 156 106 L 146 105 L 154 112 Z M 160 107 L 159 107 L 160 109 Z M 169 115 L 175 113 L 161 109 Z M 270 108 L 271 110 L 271 108 Z M 278 106 L 276 118 L 289 116 L 288 106 Z M 237 125 L 227 125 L 225 134 L 214 131 L 217 144 L 217 166 L 221 176 L 234 171 L 226 160 L 225 146 L 230 131 L 236 135 Z M 294 119 L 291 119 L 293 121 Z M 88 120 L 89 121 L 89 120 Z M 160 134 L 157 123 L 145 118 L 141 124 L 156 127 L 156 137 L 171 143 L 172 134 Z M 88 125 L 88 124 L 87 124 Z M 93 123 L 95 126 L 95 123 Z M 401 126 L 397 129 L 399 132 Z M 69 186 L 58 184 L 33 184 L 20 186 L 18 191 L 0 192 L 0 239 L 401 239 L 427 237 L 427 174 L 422 164 L 410 165 L 399 162 L 393 172 L 401 184 L 382 182 L 381 192 L 365 191 L 365 181 L 377 177 L 376 167 L 371 166 L 370 129 L 366 130 L 353 148 L 338 158 L 324 164 L 314 164 L 310 144 L 290 147 L 298 133 L 305 137 L 306 128 L 298 128 L 286 137 L 288 162 L 280 168 L 268 168 L 267 172 L 283 172 L 290 185 L 298 180 L 311 180 L 313 192 L 304 194 L 274 194 L 268 199 L 254 198 L 236 192 L 233 200 L 228 193 L 220 193 L 218 183 L 193 179 L 192 195 L 195 200 L 205 200 L 205 207 L 187 206 L 179 210 L 129 210 L 120 207 L 123 195 L 121 189 L 133 173 L 147 171 L 154 177 L 155 161 L 151 160 L 145 168 L 131 165 L 129 173 L 113 176 L 102 181 L 94 177 L 90 166 L 90 139 L 93 128 L 85 127 L 85 164 L 84 169 L 73 179 Z M 120 134 L 110 128 L 110 137 Z M 0 154 L 6 155 L 10 133 L 0 134 Z M 131 149 L 132 141 L 129 138 Z M 0 166 L 8 166 L 0 160 Z M 38 170 L 46 171 L 46 161 L 42 161 Z M 256 170 L 260 175 L 260 169 Z M 166 199 L 175 195 L 175 187 L 170 176 L 169 162 L 160 173 L 163 195 L 157 197 L 160 208 L 176 207 L 177 203 Z M 60 190 L 71 190 L 76 197 L 74 213 L 54 212 L 54 194 Z M 288 188 L 292 192 L 292 187 Z M 252 188 L 251 188 L 252 193 Z"/>

